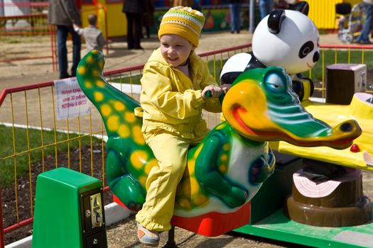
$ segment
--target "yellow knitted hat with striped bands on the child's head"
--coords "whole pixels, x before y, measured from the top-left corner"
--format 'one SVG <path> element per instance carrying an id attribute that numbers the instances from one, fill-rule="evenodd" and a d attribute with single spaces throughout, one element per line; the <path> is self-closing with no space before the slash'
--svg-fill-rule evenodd
<path id="1" fill-rule="evenodd" d="M 164 14 L 159 26 L 158 38 L 161 39 L 161 36 L 166 34 L 180 35 L 197 47 L 204 23 L 205 16 L 200 11 L 176 6 Z"/>

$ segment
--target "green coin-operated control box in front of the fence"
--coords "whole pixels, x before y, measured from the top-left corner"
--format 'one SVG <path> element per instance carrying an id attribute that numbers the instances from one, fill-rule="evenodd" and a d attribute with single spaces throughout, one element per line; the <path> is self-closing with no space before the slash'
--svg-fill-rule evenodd
<path id="1" fill-rule="evenodd" d="M 33 248 L 106 248 L 102 181 L 60 167 L 38 175 Z"/>

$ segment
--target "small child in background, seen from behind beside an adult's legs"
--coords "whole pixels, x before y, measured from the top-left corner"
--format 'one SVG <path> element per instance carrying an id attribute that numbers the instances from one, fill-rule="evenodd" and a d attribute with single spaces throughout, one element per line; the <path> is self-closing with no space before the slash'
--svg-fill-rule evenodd
<path id="1" fill-rule="evenodd" d="M 102 31 L 97 28 L 97 16 L 90 14 L 90 16 L 88 16 L 88 23 L 90 25 L 87 28 L 79 28 L 79 26 L 74 24 L 74 30 L 79 35 L 83 35 L 85 45 L 87 45 L 87 52 L 93 49 L 102 51 L 105 45 L 105 39 L 102 35 Z"/>

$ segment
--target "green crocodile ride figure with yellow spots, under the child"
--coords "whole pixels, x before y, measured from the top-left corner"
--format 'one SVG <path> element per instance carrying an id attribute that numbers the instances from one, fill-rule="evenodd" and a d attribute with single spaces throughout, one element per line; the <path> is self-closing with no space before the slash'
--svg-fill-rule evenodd
<path id="1" fill-rule="evenodd" d="M 149 171 L 158 164 L 141 133 L 140 104 L 108 84 L 103 67 L 104 55 L 92 50 L 80 61 L 77 81 L 102 115 L 107 130 L 109 188 L 127 208 L 139 210 L 145 201 Z M 280 67 L 240 74 L 222 101 L 222 113 L 226 121 L 199 145 L 190 147 L 177 188 L 176 216 L 234 213 L 248 203 L 274 171 L 268 141 L 345 149 L 362 132 L 355 120 L 331 128 L 313 118 L 301 106 L 290 77 Z"/>

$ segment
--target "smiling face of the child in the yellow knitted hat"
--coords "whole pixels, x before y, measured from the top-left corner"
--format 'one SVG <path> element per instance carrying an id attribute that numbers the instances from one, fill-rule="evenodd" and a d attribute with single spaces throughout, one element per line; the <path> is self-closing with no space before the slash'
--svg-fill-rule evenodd
<path id="1" fill-rule="evenodd" d="M 189 40 L 179 35 L 162 35 L 161 36 L 161 53 L 163 58 L 171 64 L 172 67 L 185 65 L 194 50 L 194 46 Z"/>

